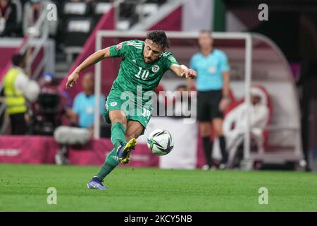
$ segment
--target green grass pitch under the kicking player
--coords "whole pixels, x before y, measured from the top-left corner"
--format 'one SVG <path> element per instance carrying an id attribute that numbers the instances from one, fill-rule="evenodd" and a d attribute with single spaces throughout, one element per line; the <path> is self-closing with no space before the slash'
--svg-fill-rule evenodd
<path id="1" fill-rule="evenodd" d="M 99 167 L 0 165 L 0 211 L 317 211 L 317 177 L 306 172 L 118 167 L 108 191 L 87 189 Z M 57 204 L 46 202 L 56 188 Z M 259 188 L 268 204 L 259 204 Z"/>

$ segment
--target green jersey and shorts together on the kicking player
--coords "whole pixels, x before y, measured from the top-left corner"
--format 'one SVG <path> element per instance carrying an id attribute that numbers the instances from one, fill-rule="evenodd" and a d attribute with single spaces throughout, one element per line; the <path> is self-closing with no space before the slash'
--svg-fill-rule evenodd
<path id="1" fill-rule="evenodd" d="M 111 57 L 122 57 L 118 77 L 106 97 L 106 121 L 109 112 L 122 110 L 128 121 L 139 121 L 144 128 L 151 118 L 151 97 L 164 73 L 178 64 L 173 54 L 165 51 L 159 59 L 146 64 L 143 59 L 144 42 L 130 40 L 110 47 Z"/>

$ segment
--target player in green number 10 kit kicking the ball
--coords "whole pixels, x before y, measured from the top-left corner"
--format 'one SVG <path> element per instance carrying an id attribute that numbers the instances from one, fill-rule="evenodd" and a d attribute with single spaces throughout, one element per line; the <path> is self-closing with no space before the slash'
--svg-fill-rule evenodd
<path id="1" fill-rule="evenodd" d="M 106 97 L 105 119 L 111 123 L 113 150 L 87 184 L 89 189 L 106 190 L 102 184 L 106 175 L 119 162 L 127 164 L 130 161 L 136 139 L 144 133 L 151 117 L 151 106 L 148 105 L 151 95 L 164 73 L 170 69 L 180 77 L 196 77 L 196 71 L 178 64 L 173 54 L 166 50 L 168 46 L 169 40 L 163 30 L 149 31 L 145 41 L 125 41 L 95 52 L 68 76 L 66 88 L 71 88 L 80 71 L 102 59 L 122 57 L 118 77 Z"/>

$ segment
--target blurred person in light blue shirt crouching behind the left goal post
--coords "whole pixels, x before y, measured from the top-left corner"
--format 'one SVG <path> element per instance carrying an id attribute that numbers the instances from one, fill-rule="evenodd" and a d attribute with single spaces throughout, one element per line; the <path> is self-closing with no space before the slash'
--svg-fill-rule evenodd
<path id="1" fill-rule="evenodd" d="M 68 164 L 68 145 L 84 145 L 90 141 L 94 129 L 94 76 L 86 73 L 82 78 L 83 91 L 75 96 L 73 108 L 66 109 L 66 114 L 70 118 L 70 125 L 59 126 L 54 131 L 57 143 L 61 144 L 61 149 L 56 153 L 56 164 Z M 105 98 L 100 97 L 100 115 L 104 114 Z"/>

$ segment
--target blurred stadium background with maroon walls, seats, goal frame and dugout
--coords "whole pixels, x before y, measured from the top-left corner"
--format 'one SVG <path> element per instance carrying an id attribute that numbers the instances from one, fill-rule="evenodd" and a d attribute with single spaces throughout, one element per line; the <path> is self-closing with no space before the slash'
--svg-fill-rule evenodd
<path id="1" fill-rule="evenodd" d="M 261 3 L 268 6 L 268 20 L 259 20 Z M 317 170 L 317 1 L 1 0 L 0 4 L 1 12 L 6 12 L 1 13 L 5 21 L 0 37 L 1 90 L 16 53 L 27 53 L 25 71 L 41 88 L 37 101 L 29 105 L 25 136 L 11 135 L 6 100 L 1 97 L 1 163 L 55 163 L 61 147 L 54 130 L 70 124 L 63 109 L 72 107 L 75 95 L 82 91 L 81 83 L 65 90 L 66 78 L 89 54 L 123 40 L 142 39 L 147 30 L 162 29 L 172 43 L 170 51 L 188 65 L 199 50 L 198 32 L 211 30 L 215 47 L 228 55 L 232 107 L 258 85 L 266 93 L 270 111 L 263 147 L 252 150 L 247 136 L 240 168 Z M 100 81 L 95 86 L 98 98 L 109 92 L 119 64 L 117 59 L 106 60 L 85 71 Z M 167 73 L 158 91 L 174 91 L 182 84 L 185 80 Z M 164 106 L 175 102 L 173 97 L 158 101 Z M 162 126 L 175 137 L 173 152 L 151 155 L 143 136 L 130 166 L 196 169 L 204 165 L 197 124 L 152 117 L 146 135 Z M 191 139 L 183 141 L 184 136 Z M 111 150 L 109 137 L 110 127 L 95 117 L 92 139 L 70 146 L 70 165 L 101 165 Z M 217 159 L 218 145 L 213 146 Z"/>

